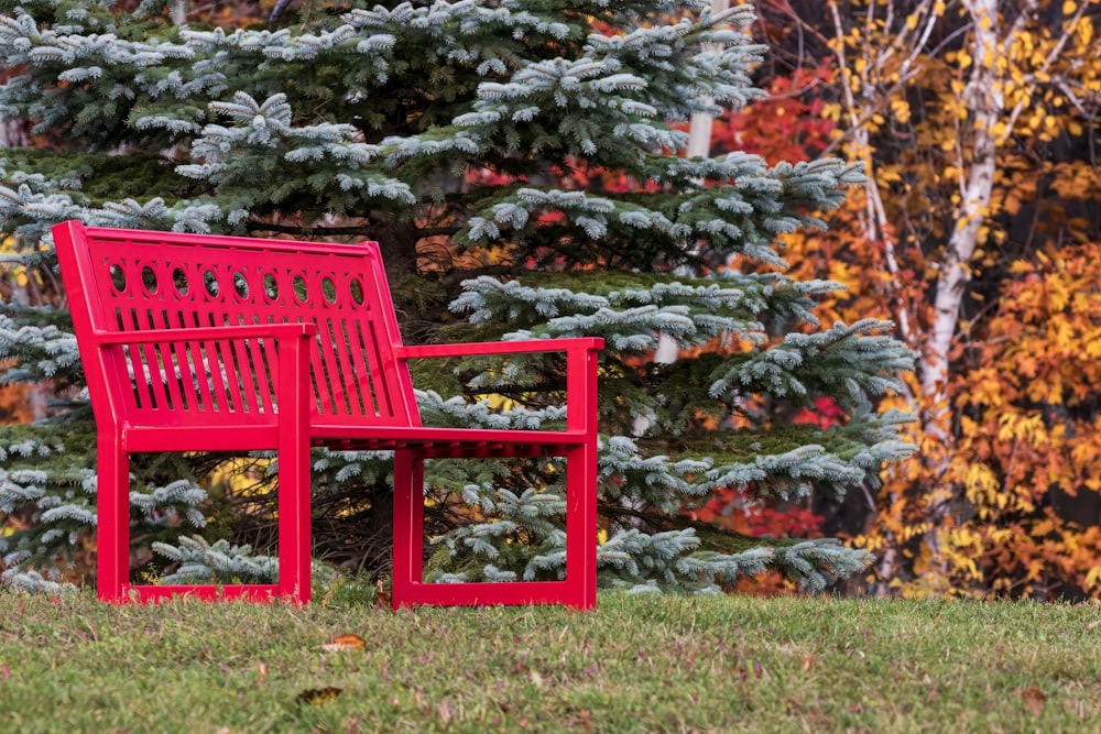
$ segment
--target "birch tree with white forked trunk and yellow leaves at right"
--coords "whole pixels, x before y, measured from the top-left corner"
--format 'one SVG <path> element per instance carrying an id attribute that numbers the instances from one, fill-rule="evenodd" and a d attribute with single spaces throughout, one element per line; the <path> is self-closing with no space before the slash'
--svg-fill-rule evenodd
<path id="1" fill-rule="evenodd" d="M 908 399 L 920 465 L 889 470 L 881 579 L 937 587 L 975 513 L 961 461 L 960 354 L 994 307 L 998 273 L 1061 232 L 1042 191 L 1084 193 L 1099 106 L 1097 0 L 776 0 L 764 29 L 789 63 L 829 58 L 830 151 L 870 173 L 857 212 L 893 282 L 883 314 L 920 358 Z M 788 30 L 789 29 L 789 30 Z M 1057 152 L 1079 147 L 1078 163 Z M 1059 153 L 1068 157 L 1066 153 Z M 1075 158 L 1075 156 L 1069 156 Z M 1095 171 L 1095 167 L 1093 168 Z M 1066 182 L 1066 183 L 1065 183 Z M 1021 221 L 1031 212 L 1032 220 Z M 1077 231 L 1077 230 L 1076 230 Z M 1045 240 L 1045 238 L 1048 238 Z M 925 297 L 912 299 L 917 278 Z M 953 385 L 957 385 L 953 387 Z M 953 392 L 953 390 L 956 392 Z M 886 587 L 884 587 L 885 589 Z"/>

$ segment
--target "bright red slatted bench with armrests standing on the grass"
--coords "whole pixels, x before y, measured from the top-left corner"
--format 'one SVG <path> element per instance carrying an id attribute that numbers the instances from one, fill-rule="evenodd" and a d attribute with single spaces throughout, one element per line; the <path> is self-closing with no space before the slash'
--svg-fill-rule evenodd
<path id="1" fill-rule="evenodd" d="M 53 230 L 98 431 L 98 593 L 309 600 L 309 449 L 393 450 L 393 605 L 596 604 L 600 339 L 402 344 L 379 247 L 85 227 Z M 407 360 L 565 351 L 559 431 L 421 423 Z M 132 376 L 133 375 L 133 376 Z M 134 379 L 134 376 L 137 379 Z M 130 583 L 130 461 L 276 450 L 279 582 Z M 423 467 L 435 457 L 567 460 L 566 578 L 424 583 Z"/>

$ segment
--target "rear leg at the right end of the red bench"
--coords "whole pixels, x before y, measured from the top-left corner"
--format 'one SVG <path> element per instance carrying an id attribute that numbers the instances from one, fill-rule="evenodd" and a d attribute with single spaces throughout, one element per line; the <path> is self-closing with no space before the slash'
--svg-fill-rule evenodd
<path id="1" fill-rule="evenodd" d="M 424 579 L 424 458 L 394 451 L 393 607 L 413 605 L 413 585 Z"/>

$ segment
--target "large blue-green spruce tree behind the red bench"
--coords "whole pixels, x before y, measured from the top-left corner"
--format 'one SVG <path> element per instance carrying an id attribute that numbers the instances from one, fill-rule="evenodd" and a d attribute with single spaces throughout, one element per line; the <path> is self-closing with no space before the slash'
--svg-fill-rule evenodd
<path id="1" fill-rule="evenodd" d="M 0 513 L 23 521 L 0 540 L 4 578 L 64 576 L 92 522 L 94 429 L 48 233 L 69 218 L 378 240 L 408 342 L 603 337 L 603 585 L 715 591 L 774 568 L 820 589 L 862 570 L 870 555 L 832 539 L 734 536 L 690 514 L 730 487 L 746 502 L 839 497 L 909 450 L 906 417 L 875 405 L 912 355 L 881 321 L 819 327 L 816 299 L 839 286 L 794 282 L 777 243 L 819 227 L 859 167 L 678 155 L 675 123 L 760 94 L 751 9 L 708 4 L 323 1 L 221 29 L 174 25 L 159 0 L 0 0 L 0 114 L 44 141 L 0 151 L 4 262 L 55 295 L 4 305 L 2 380 L 51 380 L 65 398 L 50 425 L 0 434 Z M 650 360 L 663 336 L 685 350 L 674 364 Z M 552 426 L 556 366 L 470 359 L 414 376 L 426 420 Z M 793 425 L 821 397 L 840 425 Z M 32 470 L 35 451 L 66 459 Z M 380 570 L 389 457 L 315 459 L 315 557 Z M 134 478 L 133 523 L 150 528 L 135 556 L 152 547 L 177 574 L 270 574 L 241 544 L 271 540 L 271 503 L 230 516 L 232 493 L 199 487 L 217 462 L 168 457 Z M 554 469 L 432 463 L 432 578 L 560 573 Z M 270 497 L 266 471 L 252 507 Z"/>

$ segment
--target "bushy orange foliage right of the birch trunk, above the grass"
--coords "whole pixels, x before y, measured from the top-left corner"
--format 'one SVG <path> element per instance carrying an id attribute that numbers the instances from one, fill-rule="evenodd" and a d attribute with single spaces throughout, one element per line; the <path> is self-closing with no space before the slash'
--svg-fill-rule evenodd
<path id="1" fill-rule="evenodd" d="M 1101 244 L 1007 269 L 1002 297 L 953 380 L 950 480 L 969 515 L 950 529 L 953 580 L 1007 594 L 1101 581 Z M 1089 514 L 1086 514 L 1089 513 Z"/>

